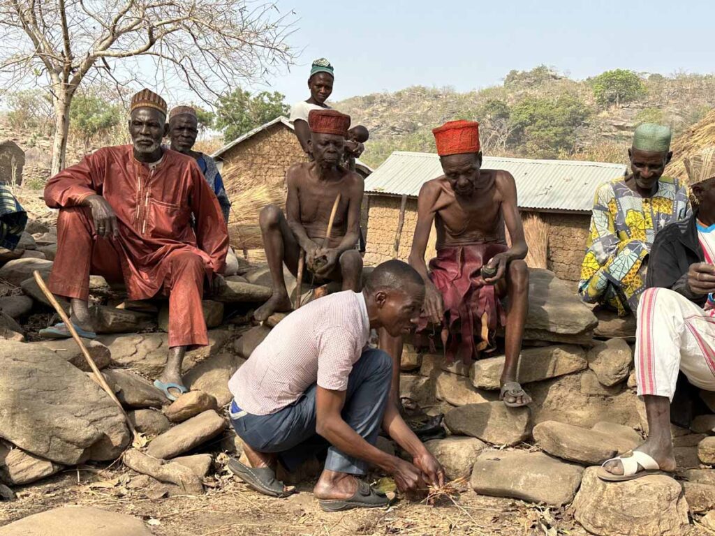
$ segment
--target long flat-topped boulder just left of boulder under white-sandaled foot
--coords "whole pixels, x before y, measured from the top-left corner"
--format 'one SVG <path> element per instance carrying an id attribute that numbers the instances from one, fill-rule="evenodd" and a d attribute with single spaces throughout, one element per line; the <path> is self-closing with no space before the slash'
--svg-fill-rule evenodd
<path id="1" fill-rule="evenodd" d="M 582 473 L 582 467 L 542 452 L 483 452 L 474 464 L 471 485 L 481 495 L 565 505 L 576 495 Z"/>

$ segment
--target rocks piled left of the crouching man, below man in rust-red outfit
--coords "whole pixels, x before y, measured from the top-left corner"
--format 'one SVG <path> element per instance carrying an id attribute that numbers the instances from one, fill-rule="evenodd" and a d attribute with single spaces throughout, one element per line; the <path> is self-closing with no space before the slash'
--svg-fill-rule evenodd
<path id="1" fill-rule="evenodd" d="M 227 382 L 245 362 L 230 343 L 252 339 L 240 337 L 250 332 L 250 325 L 226 320 L 243 317 L 247 322 L 250 310 L 270 296 L 270 288 L 234 274 L 220 294 L 204 300 L 209 346 L 187 353 L 183 372 L 190 391 L 170 403 L 152 383 L 167 359 L 166 302 L 127 302 L 122 289 L 92 276 L 91 309 L 100 337 L 84 343 L 140 434 L 135 448 L 127 450 L 132 438 L 124 416 L 89 372 L 74 340 L 37 336 L 39 329 L 56 322 L 33 279 L 35 270 L 49 277 L 56 229 L 29 226 L 35 227 L 38 233 L 25 233 L 14 252 L 0 250 L 0 495 L 11 495 L 5 485 L 26 485 L 67 466 L 116 460 L 123 453 L 127 467 L 177 492 L 202 492 L 213 454 L 196 453 L 221 451 L 219 436 L 227 429 L 223 408 L 231 399 Z M 255 268 L 245 261 L 232 264 L 253 279 Z M 247 357 L 252 349 L 244 346 Z M 84 513 L 62 509 L 54 517 Z M 54 517 L 36 521 L 53 523 Z"/>

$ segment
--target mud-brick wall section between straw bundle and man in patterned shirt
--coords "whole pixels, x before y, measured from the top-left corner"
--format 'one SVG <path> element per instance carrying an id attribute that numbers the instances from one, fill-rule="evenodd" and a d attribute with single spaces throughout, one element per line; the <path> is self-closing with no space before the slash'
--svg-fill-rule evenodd
<path id="1" fill-rule="evenodd" d="M 549 224 L 548 269 L 559 279 L 578 282 L 591 215 L 540 212 L 539 216 Z"/>

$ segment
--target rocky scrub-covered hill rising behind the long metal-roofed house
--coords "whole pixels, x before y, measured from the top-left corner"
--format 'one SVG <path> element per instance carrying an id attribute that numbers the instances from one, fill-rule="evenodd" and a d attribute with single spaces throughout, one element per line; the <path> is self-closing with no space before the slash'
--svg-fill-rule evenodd
<path id="1" fill-rule="evenodd" d="M 622 162 L 623 142 L 638 124 L 669 124 L 677 135 L 715 108 L 715 76 L 637 77 L 641 91 L 615 102 L 599 100 L 596 79 L 576 81 L 539 66 L 511 71 L 503 84 L 478 91 L 413 86 L 355 96 L 335 107 L 370 129 L 364 159 L 373 166 L 394 150 L 433 151 L 430 129 L 451 119 L 480 121 L 489 154 Z"/>

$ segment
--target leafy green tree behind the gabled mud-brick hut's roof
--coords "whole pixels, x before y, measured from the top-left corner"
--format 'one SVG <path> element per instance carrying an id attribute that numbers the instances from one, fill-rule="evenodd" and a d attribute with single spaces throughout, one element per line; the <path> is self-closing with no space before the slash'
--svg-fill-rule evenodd
<path id="1" fill-rule="evenodd" d="M 250 91 L 235 89 L 217 101 L 215 126 L 224 130 L 227 143 L 232 142 L 277 116 L 287 115 L 290 106 L 285 104 L 284 99 L 285 95 L 278 91 L 261 91 L 251 95 Z"/>

